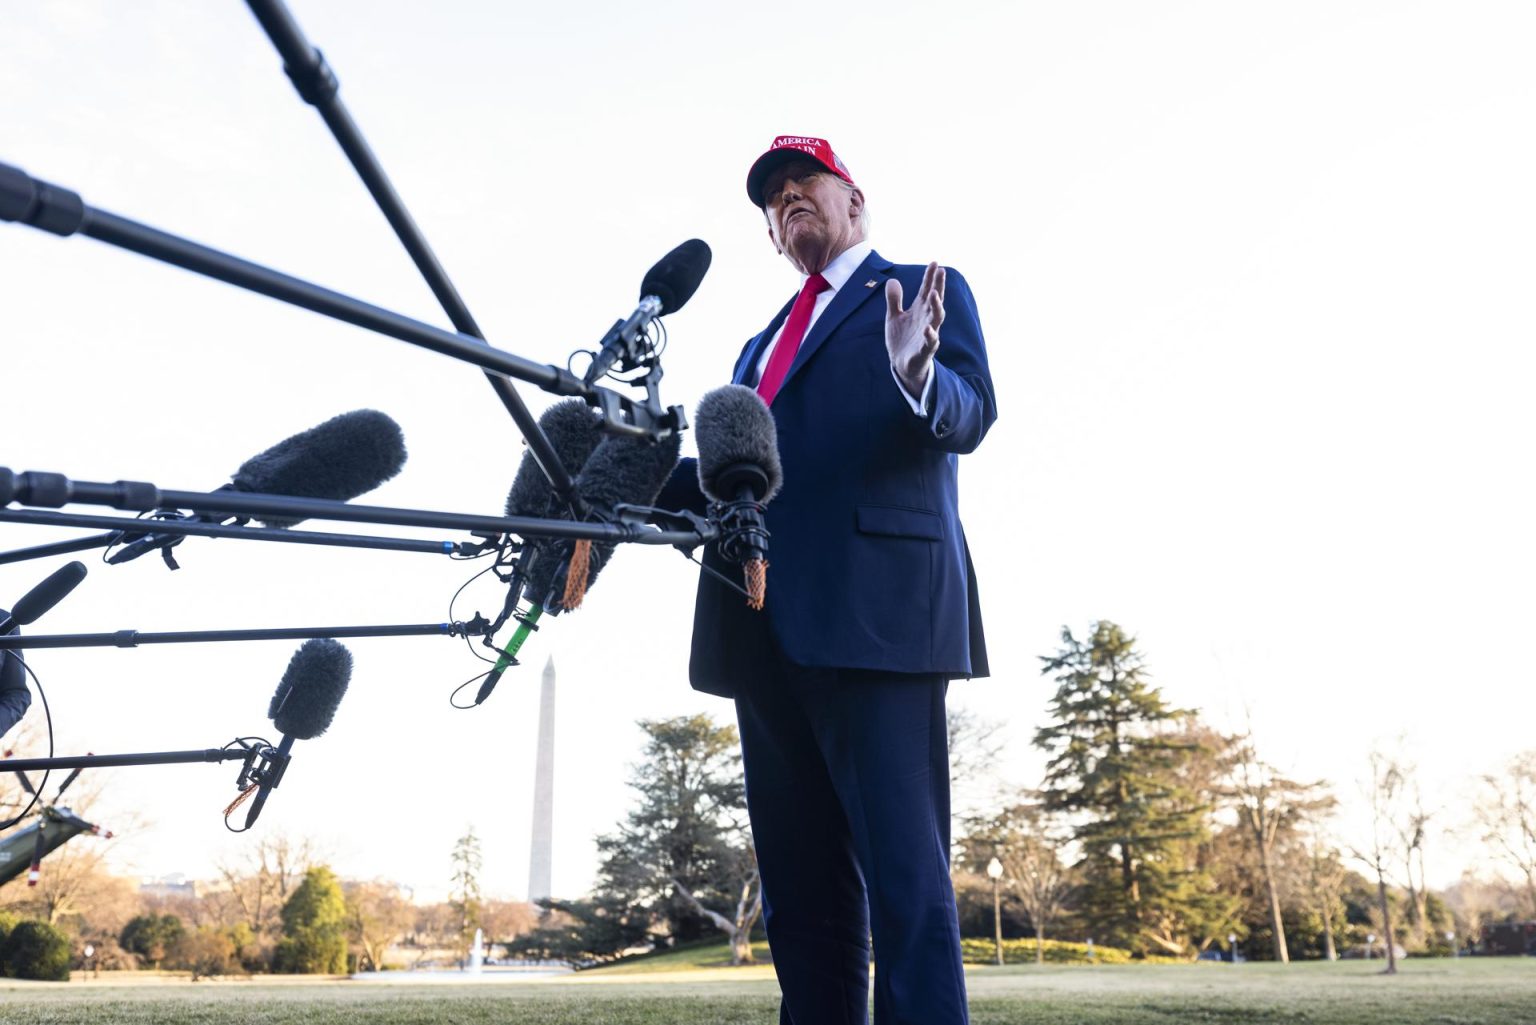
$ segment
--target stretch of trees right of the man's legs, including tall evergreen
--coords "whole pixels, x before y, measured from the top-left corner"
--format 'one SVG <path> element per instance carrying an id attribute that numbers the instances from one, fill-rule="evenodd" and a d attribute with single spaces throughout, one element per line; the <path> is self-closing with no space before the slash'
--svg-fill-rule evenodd
<path id="1" fill-rule="evenodd" d="M 1055 682 L 1034 738 L 1044 776 L 969 814 L 957 844 L 968 933 L 994 916 L 994 857 L 1006 931 L 1091 937 L 1138 957 L 1353 954 L 1393 971 L 1401 953 L 1473 950 L 1490 922 L 1536 917 L 1536 753 L 1481 779 L 1470 825 L 1505 871 L 1468 871 L 1436 893 L 1425 851 L 1453 824 L 1436 822 L 1401 755 L 1369 755 L 1370 825 L 1346 836 L 1330 784 L 1296 779 L 1252 735 L 1174 707 L 1120 625 L 1095 622 L 1083 638 L 1063 629 L 1041 672 Z"/>

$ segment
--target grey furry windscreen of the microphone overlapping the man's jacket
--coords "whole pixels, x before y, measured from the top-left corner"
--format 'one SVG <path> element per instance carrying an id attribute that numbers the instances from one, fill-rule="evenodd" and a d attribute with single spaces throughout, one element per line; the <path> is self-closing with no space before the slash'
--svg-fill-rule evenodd
<path id="1" fill-rule="evenodd" d="M 699 444 L 699 487 L 714 501 L 734 501 L 740 467 L 757 467 L 753 484 L 760 503 L 770 501 L 783 484 L 779 463 L 779 429 L 762 396 L 742 384 L 717 387 L 699 400 L 693 420 Z M 757 495 L 760 483 L 766 490 Z"/>

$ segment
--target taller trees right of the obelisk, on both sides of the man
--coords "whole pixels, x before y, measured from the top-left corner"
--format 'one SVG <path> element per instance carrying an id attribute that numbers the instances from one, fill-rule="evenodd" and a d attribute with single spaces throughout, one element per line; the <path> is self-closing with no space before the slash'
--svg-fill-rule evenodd
<path id="1" fill-rule="evenodd" d="M 1369 954 L 1390 970 L 1399 953 L 1471 950 L 1495 921 L 1536 919 L 1536 751 L 1479 781 L 1470 825 L 1504 871 L 1470 867 L 1433 891 L 1425 850 L 1452 824 L 1424 807 L 1404 758 L 1370 755 L 1372 827 L 1342 836 L 1330 784 L 1293 778 L 1250 735 L 1170 704 L 1120 625 L 1063 629 L 1041 673 L 1055 684 L 1034 736 L 1043 779 L 998 787 L 958 822 L 965 936 L 994 937 L 1001 919 L 1040 960 L 1057 936 L 1077 942 L 1075 956 Z M 639 725 L 634 805 L 598 841 L 593 891 L 545 902 L 551 914 L 515 950 L 591 964 L 725 937 L 734 962 L 750 960 L 760 891 L 736 731 L 708 716 Z M 997 761 L 1001 728 L 965 712 L 949 725 L 963 785 Z"/>

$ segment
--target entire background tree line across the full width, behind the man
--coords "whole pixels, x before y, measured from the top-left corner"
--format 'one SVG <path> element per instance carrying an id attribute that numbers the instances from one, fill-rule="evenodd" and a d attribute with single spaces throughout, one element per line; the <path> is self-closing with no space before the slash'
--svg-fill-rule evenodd
<path id="1" fill-rule="evenodd" d="M 1170 704 L 1117 624 L 1063 629 L 1041 673 L 1055 687 L 1034 736 L 1043 778 L 991 781 L 957 822 L 963 936 L 1000 931 L 1011 957 L 1040 960 L 1236 950 L 1281 962 L 1369 954 L 1390 968 L 1399 953 L 1475 950 L 1491 925 L 1536 919 L 1536 750 L 1481 776 L 1464 821 L 1425 807 L 1413 765 L 1375 750 L 1362 759 L 1369 824 L 1346 834 L 1330 784 L 1295 778 L 1252 736 Z M 510 957 L 585 965 L 725 939 L 733 962 L 751 960 L 762 894 L 736 730 L 710 716 L 639 727 L 634 799 L 596 839 L 596 882 L 581 899 L 487 899 L 473 830 L 452 850 L 450 899 L 435 905 L 392 884 L 341 881 L 281 839 L 221 867 L 197 896 L 146 897 L 101 867 L 98 845 L 71 844 L 37 887 L 0 888 L 0 933 L 32 921 L 58 930 L 75 964 L 91 944 L 95 967 L 195 973 L 453 964 L 476 928 Z M 965 712 L 949 727 L 957 790 L 974 793 L 1001 727 Z M 1488 861 L 1435 890 L 1427 853 L 1452 827 L 1473 830 Z M 22 934 L 41 942 L 37 928 Z M 968 951 L 992 956 L 989 944 Z M 5 957 L 0 937 L 0 973 Z"/>

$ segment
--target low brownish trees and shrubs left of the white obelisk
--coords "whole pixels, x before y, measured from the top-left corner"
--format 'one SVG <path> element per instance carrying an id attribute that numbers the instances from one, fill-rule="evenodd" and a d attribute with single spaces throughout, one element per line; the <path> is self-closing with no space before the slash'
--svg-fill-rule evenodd
<path id="1" fill-rule="evenodd" d="M 455 844 L 449 901 L 416 904 L 392 882 L 341 879 L 307 844 L 283 838 L 258 841 L 186 891 L 144 891 L 109 871 L 98 845 L 71 844 L 43 862 L 35 887 L 23 877 L 0 888 L 0 974 L 9 947 L 46 965 L 9 971 L 18 977 L 68 977 L 71 967 L 201 977 L 461 965 L 476 928 L 498 944 L 538 921 L 533 905 L 481 896 L 478 847 L 473 830 Z"/>

